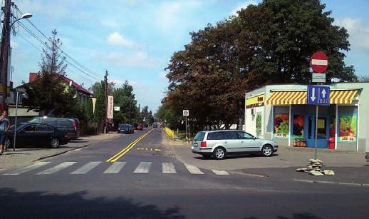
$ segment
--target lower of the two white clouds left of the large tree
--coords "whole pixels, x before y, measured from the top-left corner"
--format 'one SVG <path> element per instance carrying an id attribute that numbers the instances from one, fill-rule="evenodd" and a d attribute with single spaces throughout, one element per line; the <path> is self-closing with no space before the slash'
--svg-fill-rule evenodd
<path id="1" fill-rule="evenodd" d="M 106 60 L 118 67 L 142 67 L 155 68 L 160 65 L 160 61 L 150 57 L 145 51 L 137 51 L 133 54 L 122 54 L 110 52 L 105 56 Z"/>

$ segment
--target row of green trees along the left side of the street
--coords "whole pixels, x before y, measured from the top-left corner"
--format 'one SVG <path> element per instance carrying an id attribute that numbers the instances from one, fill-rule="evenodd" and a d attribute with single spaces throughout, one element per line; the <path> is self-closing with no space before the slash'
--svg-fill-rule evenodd
<path id="1" fill-rule="evenodd" d="M 105 118 L 105 87 L 108 95 L 114 96 L 114 106 L 120 106 L 120 111 L 114 111 L 113 121 L 119 123 L 152 123 L 154 118 L 152 112 L 145 106 L 142 111 L 137 107 L 133 88 L 125 81 L 123 86 L 115 87 L 114 83 L 105 81 L 96 82 L 91 86 L 90 92 L 96 97 L 95 111 L 93 111 L 92 98 L 87 102 L 78 103 L 76 91 L 63 81 L 66 76 L 66 57 L 62 56 L 61 41 L 56 37 L 54 30 L 50 38 L 51 45 L 43 49 L 43 58 L 39 63 L 40 71 L 36 80 L 24 83 L 26 96 L 23 104 L 29 110 L 43 111 L 46 116 L 79 118 L 81 128 L 87 129 L 88 133 L 102 131 Z M 144 119 L 145 118 L 145 119 Z"/>

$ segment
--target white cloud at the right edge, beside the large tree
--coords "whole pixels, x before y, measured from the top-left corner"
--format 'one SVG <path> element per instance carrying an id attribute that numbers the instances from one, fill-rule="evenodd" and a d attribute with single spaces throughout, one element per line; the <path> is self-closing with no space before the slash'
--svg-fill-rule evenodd
<path id="1" fill-rule="evenodd" d="M 369 24 L 361 19 L 344 18 L 335 21 L 338 26 L 343 26 L 350 34 L 350 44 L 353 49 L 369 51 Z"/>

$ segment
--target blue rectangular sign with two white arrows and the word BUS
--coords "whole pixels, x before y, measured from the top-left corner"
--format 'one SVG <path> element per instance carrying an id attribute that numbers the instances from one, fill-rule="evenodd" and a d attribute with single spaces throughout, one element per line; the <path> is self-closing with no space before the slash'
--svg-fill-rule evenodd
<path id="1" fill-rule="evenodd" d="M 328 86 L 308 86 L 308 104 L 329 106 L 329 93 L 331 89 Z"/>

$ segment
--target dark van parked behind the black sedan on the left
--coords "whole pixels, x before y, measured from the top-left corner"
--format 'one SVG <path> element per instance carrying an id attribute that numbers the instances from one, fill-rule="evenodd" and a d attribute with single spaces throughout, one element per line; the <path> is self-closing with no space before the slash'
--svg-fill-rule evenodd
<path id="1" fill-rule="evenodd" d="M 78 118 L 54 118 L 54 117 L 33 117 L 29 123 L 46 124 L 60 131 L 66 131 L 69 139 L 77 139 L 80 137 L 80 121 Z"/>

